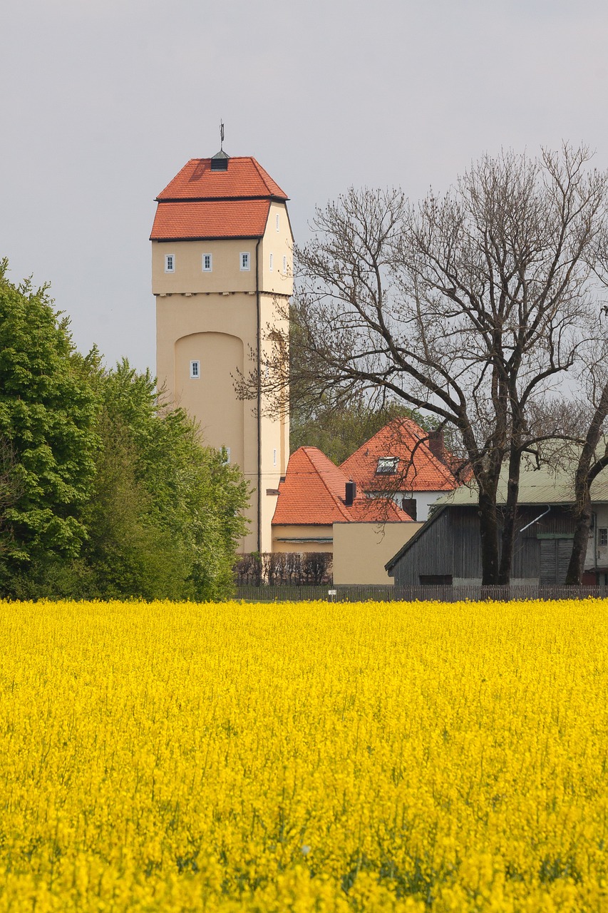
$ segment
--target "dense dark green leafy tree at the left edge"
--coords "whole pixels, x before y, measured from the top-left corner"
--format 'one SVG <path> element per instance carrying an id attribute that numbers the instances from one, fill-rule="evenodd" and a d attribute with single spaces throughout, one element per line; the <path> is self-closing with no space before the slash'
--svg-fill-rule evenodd
<path id="1" fill-rule="evenodd" d="M 5 589 L 32 563 L 79 555 L 98 446 L 95 394 L 68 321 L 53 310 L 47 287 L 16 286 L 7 268 L 1 260 L 0 439 L 10 464 L 0 525 Z"/>

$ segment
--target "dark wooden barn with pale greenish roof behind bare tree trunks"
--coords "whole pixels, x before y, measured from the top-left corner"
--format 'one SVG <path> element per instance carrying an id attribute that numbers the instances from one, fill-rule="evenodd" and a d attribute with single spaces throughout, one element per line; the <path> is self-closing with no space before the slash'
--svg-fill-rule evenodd
<path id="1" fill-rule="evenodd" d="M 585 559 L 587 583 L 608 583 L 608 473 L 593 483 L 593 524 Z M 504 502 L 505 485 L 499 488 Z M 571 477 L 543 470 L 522 473 L 519 533 L 511 583 L 563 583 L 574 534 Z M 385 565 L 395 586 L 477 585 L 481 550 L 477 489 L 458 488 Z"/>

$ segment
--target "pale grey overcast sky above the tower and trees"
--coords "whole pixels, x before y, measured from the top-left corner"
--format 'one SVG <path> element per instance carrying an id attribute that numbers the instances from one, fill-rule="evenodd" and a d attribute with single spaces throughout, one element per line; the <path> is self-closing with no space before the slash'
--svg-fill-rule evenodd
<path id="1" fill-rule="evenodd" d="M 290 197 L 443 190 L 483 152 L 608 166 L 600 0 L 19 0 L 2 15 L 0 257 L 82 351 L 154 370 L 154 197 L 219 148 Z"/>

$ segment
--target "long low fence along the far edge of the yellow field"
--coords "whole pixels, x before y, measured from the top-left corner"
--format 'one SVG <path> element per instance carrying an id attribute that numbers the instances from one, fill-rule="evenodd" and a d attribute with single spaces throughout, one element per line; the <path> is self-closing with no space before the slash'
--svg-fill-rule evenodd
<path id="1" fill-rule="evenodd" d="M 307 602 L 324 600 L 336 603 L 431 601 L 456 603 L 510 602 L 526 599 L 608 599 L 606 586 L 362 586 L 344 584 L 261 583 L 236 587 L 236 599 L 255 603 Z"/>

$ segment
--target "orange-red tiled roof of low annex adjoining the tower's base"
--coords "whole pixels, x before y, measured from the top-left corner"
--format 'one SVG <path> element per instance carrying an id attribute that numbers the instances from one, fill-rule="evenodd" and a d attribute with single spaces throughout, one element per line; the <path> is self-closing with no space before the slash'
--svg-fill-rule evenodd
<path id="1" fill-rule="evenodd" d="M 336 522 L 378 522 L 411 520 L 393 501 L 355 498 L 344 504 L 349 477 L 317 447 L 299 447 L 289 456 L 285 481 L 278 487 L 273 526 L 330 525 Z"/>

